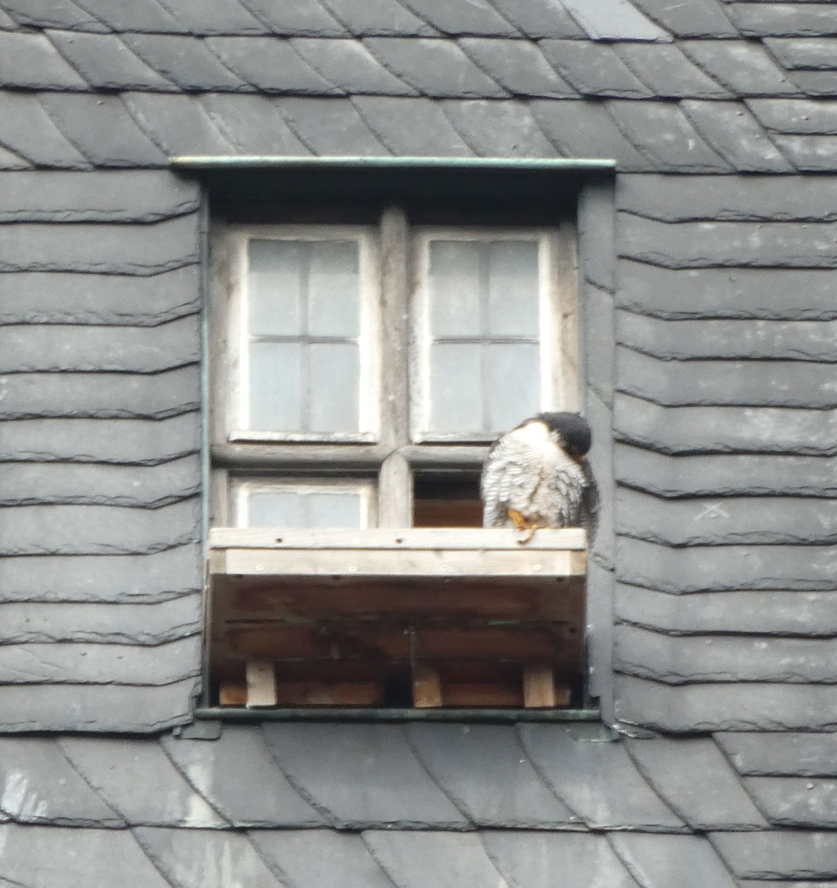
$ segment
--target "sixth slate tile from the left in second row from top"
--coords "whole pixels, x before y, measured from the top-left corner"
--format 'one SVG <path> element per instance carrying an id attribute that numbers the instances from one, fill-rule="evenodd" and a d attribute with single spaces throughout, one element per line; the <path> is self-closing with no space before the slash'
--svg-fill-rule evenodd
<path id="1" fill-rule="evenodd" d="M 363 45 L 403 83 L 431 98 L 501 99 L 507 95 L 452 41 L 367 37 Z"/>

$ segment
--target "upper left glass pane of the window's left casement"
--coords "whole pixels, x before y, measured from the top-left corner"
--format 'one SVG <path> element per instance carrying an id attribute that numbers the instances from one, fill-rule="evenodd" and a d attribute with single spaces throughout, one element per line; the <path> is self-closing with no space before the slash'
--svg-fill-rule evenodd
<path id="1" fill-rule="evenodd" d="M 251 241 L 247 329 L 254 336 L 296 336 L 301 305 L 300 244 Z"/>

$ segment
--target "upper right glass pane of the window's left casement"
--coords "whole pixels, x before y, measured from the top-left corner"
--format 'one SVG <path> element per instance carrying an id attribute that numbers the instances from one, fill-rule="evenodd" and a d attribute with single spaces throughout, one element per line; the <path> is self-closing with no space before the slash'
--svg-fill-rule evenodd
<path id="1" fill-rule="evenodd" d="M 308 332 L 355 337 L 360 329 L 360 274 L 356 241 L 308 244 Z"/>

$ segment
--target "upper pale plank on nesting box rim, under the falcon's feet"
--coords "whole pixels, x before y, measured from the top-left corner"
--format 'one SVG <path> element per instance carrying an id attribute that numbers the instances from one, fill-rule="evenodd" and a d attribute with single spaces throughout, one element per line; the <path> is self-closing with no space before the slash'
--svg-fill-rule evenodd
<path id="1" fill-rule="evenodd" d="M 214 527 L 212 549 L 398 549 L 398 550 L 506 550 L 514 552 L 573 550 L 586 547 L 581 527 L 537 530 L 528 543 L 514 530 L 482 527 L 411 527 L 394 532 L 365 530 L 291 530 L 271 527 Z"/>

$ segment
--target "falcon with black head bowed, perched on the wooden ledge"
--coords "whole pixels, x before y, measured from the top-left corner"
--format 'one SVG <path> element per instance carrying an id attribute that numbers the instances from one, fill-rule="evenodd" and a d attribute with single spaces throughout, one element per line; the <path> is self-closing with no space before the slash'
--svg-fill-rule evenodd
<path id="1" fill-rule="evenodd" d="M 586 527 L 594 534 L 598 492 L 585 459 L 592 436 L 577 413 L 538 413 L 490 448 L 482 467 L 483 527 Z"/>

